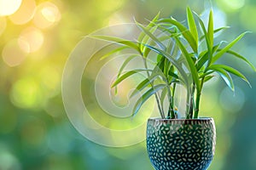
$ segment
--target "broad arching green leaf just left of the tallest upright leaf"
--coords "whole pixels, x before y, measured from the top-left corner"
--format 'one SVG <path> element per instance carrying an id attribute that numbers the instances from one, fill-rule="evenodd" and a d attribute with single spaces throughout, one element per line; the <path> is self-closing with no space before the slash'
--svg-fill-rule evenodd
<path id="1" fill-rule="evenodd" d="M 181 33 L 183 34 L 183 37 L 187 40 L 187 42 L 189 42 L 190 47 L 193 49 L 195 53 L 197 53 L 197 45 L 196 45 L 197 43 L 195 42 L 193 35 L 191 34 L 191 32 L 188 30 L 186 26 L 183 26 L 180 22 L 172 18 L 161 19 L 158 21 L 158 23 L 170 23 L 173 26 L 177 26 L 177 29 L 181 31 Z"/>

